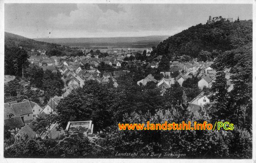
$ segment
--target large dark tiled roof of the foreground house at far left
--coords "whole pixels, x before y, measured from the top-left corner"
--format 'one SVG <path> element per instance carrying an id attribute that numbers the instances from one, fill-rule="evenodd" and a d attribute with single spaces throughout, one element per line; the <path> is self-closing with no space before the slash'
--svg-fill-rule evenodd
<path id="1" fill-rule="evenodd" d="M 11 104 L 15 116 L 25 115 L 33 113 L 30 102 L 19 102 L 17 104 Z"/>

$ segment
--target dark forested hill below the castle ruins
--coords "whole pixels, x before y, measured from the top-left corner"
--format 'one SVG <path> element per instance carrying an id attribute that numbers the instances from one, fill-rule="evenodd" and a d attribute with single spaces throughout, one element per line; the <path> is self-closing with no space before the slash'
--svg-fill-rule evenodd
<path id="1" fill-rule="evenodd" d="M 252 42 L 252 20 L 218 21 L 197 24 L 159 43 L 152 57 L 189 55 L 197 57 L 200 51 L 232 50 Z"/>

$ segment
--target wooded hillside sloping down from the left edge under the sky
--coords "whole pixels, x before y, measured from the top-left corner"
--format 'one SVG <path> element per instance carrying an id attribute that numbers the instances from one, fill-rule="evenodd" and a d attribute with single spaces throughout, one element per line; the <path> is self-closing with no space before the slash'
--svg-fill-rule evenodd
<path id="1" fill-rule="evenodd" d="M 22 46 L 27 51 L 30 51 L 31 48 L 35 48 L 36 50 L 45 49 L 46 51 L 52 48 L 57 48 L 57 49 L 65 48 L 60 44 L 36 41 L 33 39 L 25 38 L 20 35 L 11 34 L 8 32 L 4 32 L 4 46 L 5 48 Z"/>

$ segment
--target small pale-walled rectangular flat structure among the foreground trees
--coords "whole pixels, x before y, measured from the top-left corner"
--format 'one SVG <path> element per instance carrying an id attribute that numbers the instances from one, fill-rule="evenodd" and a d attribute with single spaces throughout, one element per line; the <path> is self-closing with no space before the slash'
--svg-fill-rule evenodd
<path id="1" fill-rule="evenodd" d="M 93 121 L 75 121 L 68 122 L 65 129 L 65 135 L 68 135 L 69 132 L 82 131 L 84 135 L 93 134 Z"/>

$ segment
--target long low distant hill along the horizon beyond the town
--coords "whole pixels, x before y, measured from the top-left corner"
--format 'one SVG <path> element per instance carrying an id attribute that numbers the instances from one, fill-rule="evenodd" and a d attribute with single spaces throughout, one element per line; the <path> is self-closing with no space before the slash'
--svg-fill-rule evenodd
<path id="1" fill-rule="evenodd" d="M 66 46 L 156 46 L 168 36 L 113 37 L 113 38 L 35 38 L 37 41 Z"/>

